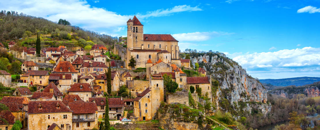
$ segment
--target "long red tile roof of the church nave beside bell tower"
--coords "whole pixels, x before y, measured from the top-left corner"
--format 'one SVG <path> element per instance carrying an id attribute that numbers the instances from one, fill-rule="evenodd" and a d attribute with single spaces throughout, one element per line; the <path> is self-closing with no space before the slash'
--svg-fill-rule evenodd
<path id="1" fill-rule="evenodd" d="M 144 41 L 178 41 L 170 34 L 143 34 Z"/>

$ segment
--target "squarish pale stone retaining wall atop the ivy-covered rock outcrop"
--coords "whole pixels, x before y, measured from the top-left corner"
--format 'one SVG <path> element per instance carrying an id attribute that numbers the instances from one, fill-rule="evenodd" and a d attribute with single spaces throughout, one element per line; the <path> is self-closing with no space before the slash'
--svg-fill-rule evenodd
<path id="1" fill-rule="evenodd" d="M 184 104 L 189 106 L 189 94 L 188 92 L 176 92 L 176 93 L 167 93 L 166 100 L 168 104 Z"/>

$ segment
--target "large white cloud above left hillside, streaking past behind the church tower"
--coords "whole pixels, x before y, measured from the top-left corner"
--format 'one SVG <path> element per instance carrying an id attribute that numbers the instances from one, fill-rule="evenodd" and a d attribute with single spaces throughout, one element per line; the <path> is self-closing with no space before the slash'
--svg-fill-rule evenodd
<path id="1" fill-rule="evenodd" d="M 99 2 L 99 0 L 93 0 Z M 19 4 L 17 4 L 19 3 Z M 72 25 L 80 26 L 87 30 L 105 32 L 108 35 L 121 36 L 120 32 L 126 27 L 126 22 L 133 15 L 120 15 L 116 12 L 108 11 L 105 8 L 92 7 L 85 0 L 10 0 L 0 1 L 0 8 L 7 11 L 17 11 L 28 15 L 43 17 L 51 21 L 66 19 Z M 170 9 L 160 9 L 147 12 L 141 15 L 140 21 L 148 17 L 160 17 L 172 15 L 173 13 L 184 11 L 200 11 L 198 6 L 178 5 Z"/>

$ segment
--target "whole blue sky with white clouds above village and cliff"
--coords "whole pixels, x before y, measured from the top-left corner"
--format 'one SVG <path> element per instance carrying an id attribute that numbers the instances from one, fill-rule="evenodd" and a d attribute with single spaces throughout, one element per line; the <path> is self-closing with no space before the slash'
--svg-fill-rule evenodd
<path id="1" fill-rule="evenodd" d="M 320 0 L 10 0 L 0 10 L 111 36 L 126 36 L 136 15 L 144 33 L 172 34 L 182 51 L 224 52 L 253 77 L 320 77 Z"/>

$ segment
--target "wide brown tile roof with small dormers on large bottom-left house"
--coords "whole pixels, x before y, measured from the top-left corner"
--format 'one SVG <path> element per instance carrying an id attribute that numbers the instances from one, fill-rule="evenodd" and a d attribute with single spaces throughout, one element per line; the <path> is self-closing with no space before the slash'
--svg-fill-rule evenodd
<path id="1" fill-rule="evenodd" d="M 41 106 L 42 109 L 38 107 Z M 59 108 L 57 106 L 60 106 Z M 28 114 L 72 112 L 62 101 L 30 101 Z"/>

